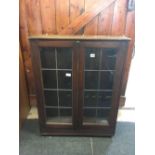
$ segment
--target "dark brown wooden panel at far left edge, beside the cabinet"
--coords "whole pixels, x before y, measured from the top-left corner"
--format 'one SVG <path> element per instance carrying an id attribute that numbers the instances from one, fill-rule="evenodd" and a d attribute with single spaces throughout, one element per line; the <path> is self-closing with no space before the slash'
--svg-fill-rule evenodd
<path id="1" fill-rule="evenodd" d="M 21 128 L 30 110 L 28 89 L 21 48 L 19 49 L 19 127 Z"/>

